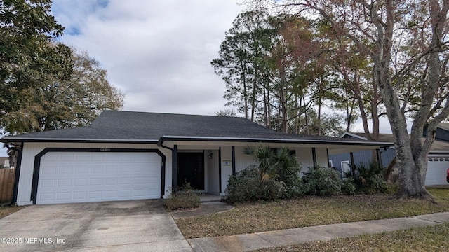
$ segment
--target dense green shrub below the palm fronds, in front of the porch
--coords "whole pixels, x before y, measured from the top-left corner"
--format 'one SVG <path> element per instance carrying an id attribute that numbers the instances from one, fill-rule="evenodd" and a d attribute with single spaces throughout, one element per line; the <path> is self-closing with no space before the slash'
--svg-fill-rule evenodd
<path id="1" fill-rule="evenodd" d="M 283 183 L 276 179 L 262 181 L 259 169 L 250 165 L 241 172 L 229 176 L 225 200 L 230 204 L 257 200 L 276 200 L 283 197 L 285 193 Z"/>

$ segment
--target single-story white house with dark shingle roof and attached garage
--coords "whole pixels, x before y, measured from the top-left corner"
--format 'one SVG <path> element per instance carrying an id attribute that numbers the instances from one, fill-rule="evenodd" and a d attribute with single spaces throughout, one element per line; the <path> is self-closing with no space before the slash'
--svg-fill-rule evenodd
<path id="1" fill-rule="evenodd" d="M 274 132 L 244 118 L 105 111 L 91 125 L 8 136 L 21 146 L 13 200 L 18 204 L 168 197 L 184 181 L 223 195 L 229 175 L 254 163 L 248 145 L 287 146 L 303 167 L 329 155 L 391 143 Z"/>

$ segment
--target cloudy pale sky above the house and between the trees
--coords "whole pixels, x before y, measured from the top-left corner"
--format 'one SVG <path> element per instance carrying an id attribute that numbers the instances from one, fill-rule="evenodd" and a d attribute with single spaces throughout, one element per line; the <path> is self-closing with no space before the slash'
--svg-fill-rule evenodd
<path id="1" fill-rule="evenodd" d="M 214 115 L 227 101 L 210 62 L 245 8 L 239 3 L 53 0 L 51 14 L 65 27 L 58 40 L 88 52 L 126 94 L 124 111 Z M 383 125 L 381 132 L 389 131 Z M 362 131 L 361 123 L 354 130 Z"/>

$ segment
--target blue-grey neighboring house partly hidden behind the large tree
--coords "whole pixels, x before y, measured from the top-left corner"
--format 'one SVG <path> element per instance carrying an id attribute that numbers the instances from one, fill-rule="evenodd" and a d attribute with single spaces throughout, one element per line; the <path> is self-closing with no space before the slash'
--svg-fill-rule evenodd
<path id="1" fill-rule="evenodd" d="M 364 133 L 349 133 L 342 135 L 344 139 L 361 139 L 366 140 Z M 394 142 L 392 134 L 380 134 L 379 141 Z M 384 146 L 377 153 L 380 154 L 380 160 L 383 167 L 388 167 L 389 163 L 395 157 L 394 146 Z M 377 157 L 376 157 L 377 158 Z M 368 163 L 373 160 L 372 151 L 358 151 L 353 153 L 340 153 L 329 155 L 329 164 L 334 167 L 337 172 L 344 176 L 345 171 L 349 171 L 351 164 L 358 165 Z M 436 130 L 434 143 L 431 145 L 428 157 L 428 167 L 426 174 L 426 186 L 447 185 L 446 174 L 449 168 L 449 124 L 441 123 Z"/>

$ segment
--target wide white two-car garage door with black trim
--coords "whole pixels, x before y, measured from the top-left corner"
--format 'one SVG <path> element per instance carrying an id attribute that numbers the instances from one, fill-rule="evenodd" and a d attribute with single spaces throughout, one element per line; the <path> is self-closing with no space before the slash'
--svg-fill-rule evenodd
<path id="1" fill-rule="evenodd" d="M 49 152 L 41 158 L 36 204 L 159 197 L 156 153 Z"/>

